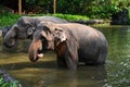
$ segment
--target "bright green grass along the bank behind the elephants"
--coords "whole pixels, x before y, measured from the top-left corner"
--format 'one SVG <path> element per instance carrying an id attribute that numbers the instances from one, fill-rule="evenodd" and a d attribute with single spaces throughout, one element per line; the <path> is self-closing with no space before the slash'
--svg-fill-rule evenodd
<path id="1" fill-rule="evenodd" d="M 43 16 L 44 14 L 35 14 L 35 15 L 28 15 L 28 16 Z M 89 17 L 82 16 L 82 15 L 72 15 L 72 14 L 47 14 L 47 15 L 53 15 L 63 20 L 67 21 L 87 21 Z M 12 14 L 12 13 L 4 13 L 0 14 L 0 27 L 5 27 L 9 25 L 13 25 L 17 22 L 17 20 L 21 16 L 18 14 Z"/>

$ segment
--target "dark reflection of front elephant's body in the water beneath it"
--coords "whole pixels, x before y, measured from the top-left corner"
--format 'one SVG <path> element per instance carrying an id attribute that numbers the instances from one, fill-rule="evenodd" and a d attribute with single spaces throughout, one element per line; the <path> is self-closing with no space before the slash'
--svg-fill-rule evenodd
<path id="1" fill-rule="evenodd" d="M 106 72 L 104 66 L 80 66 L 77 72 L 58 70 L 54 76 L 53 83 L 47 84 L 50 87 L 102 87 Z"/>

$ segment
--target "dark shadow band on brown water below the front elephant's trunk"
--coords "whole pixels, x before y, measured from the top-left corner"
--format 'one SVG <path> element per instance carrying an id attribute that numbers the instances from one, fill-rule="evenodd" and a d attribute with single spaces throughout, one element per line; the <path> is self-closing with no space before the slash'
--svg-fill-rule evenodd
<path id="1" fill-rule="evenodd" d="M 5 70 L 22 70 L 22 69 L 27 69 L 27 67 L 56 69 L 56 63 L 54 61 L 21 62 L 21 63 L 0 64 L 0 67 L 5 69 Z"/>

